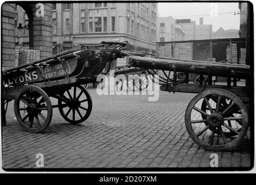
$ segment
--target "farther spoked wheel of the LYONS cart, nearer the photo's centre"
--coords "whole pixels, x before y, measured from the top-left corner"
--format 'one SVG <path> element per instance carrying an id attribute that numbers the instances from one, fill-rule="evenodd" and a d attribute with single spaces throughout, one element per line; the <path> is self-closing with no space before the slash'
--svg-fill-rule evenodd
<path id="1" fill-rule="evenodd" d="M 58 98 L 59 111 L 62 117 L 72 124 L 82 123 L 92 112 L 92 98 L 80 85 L 71 87 Z"/>

